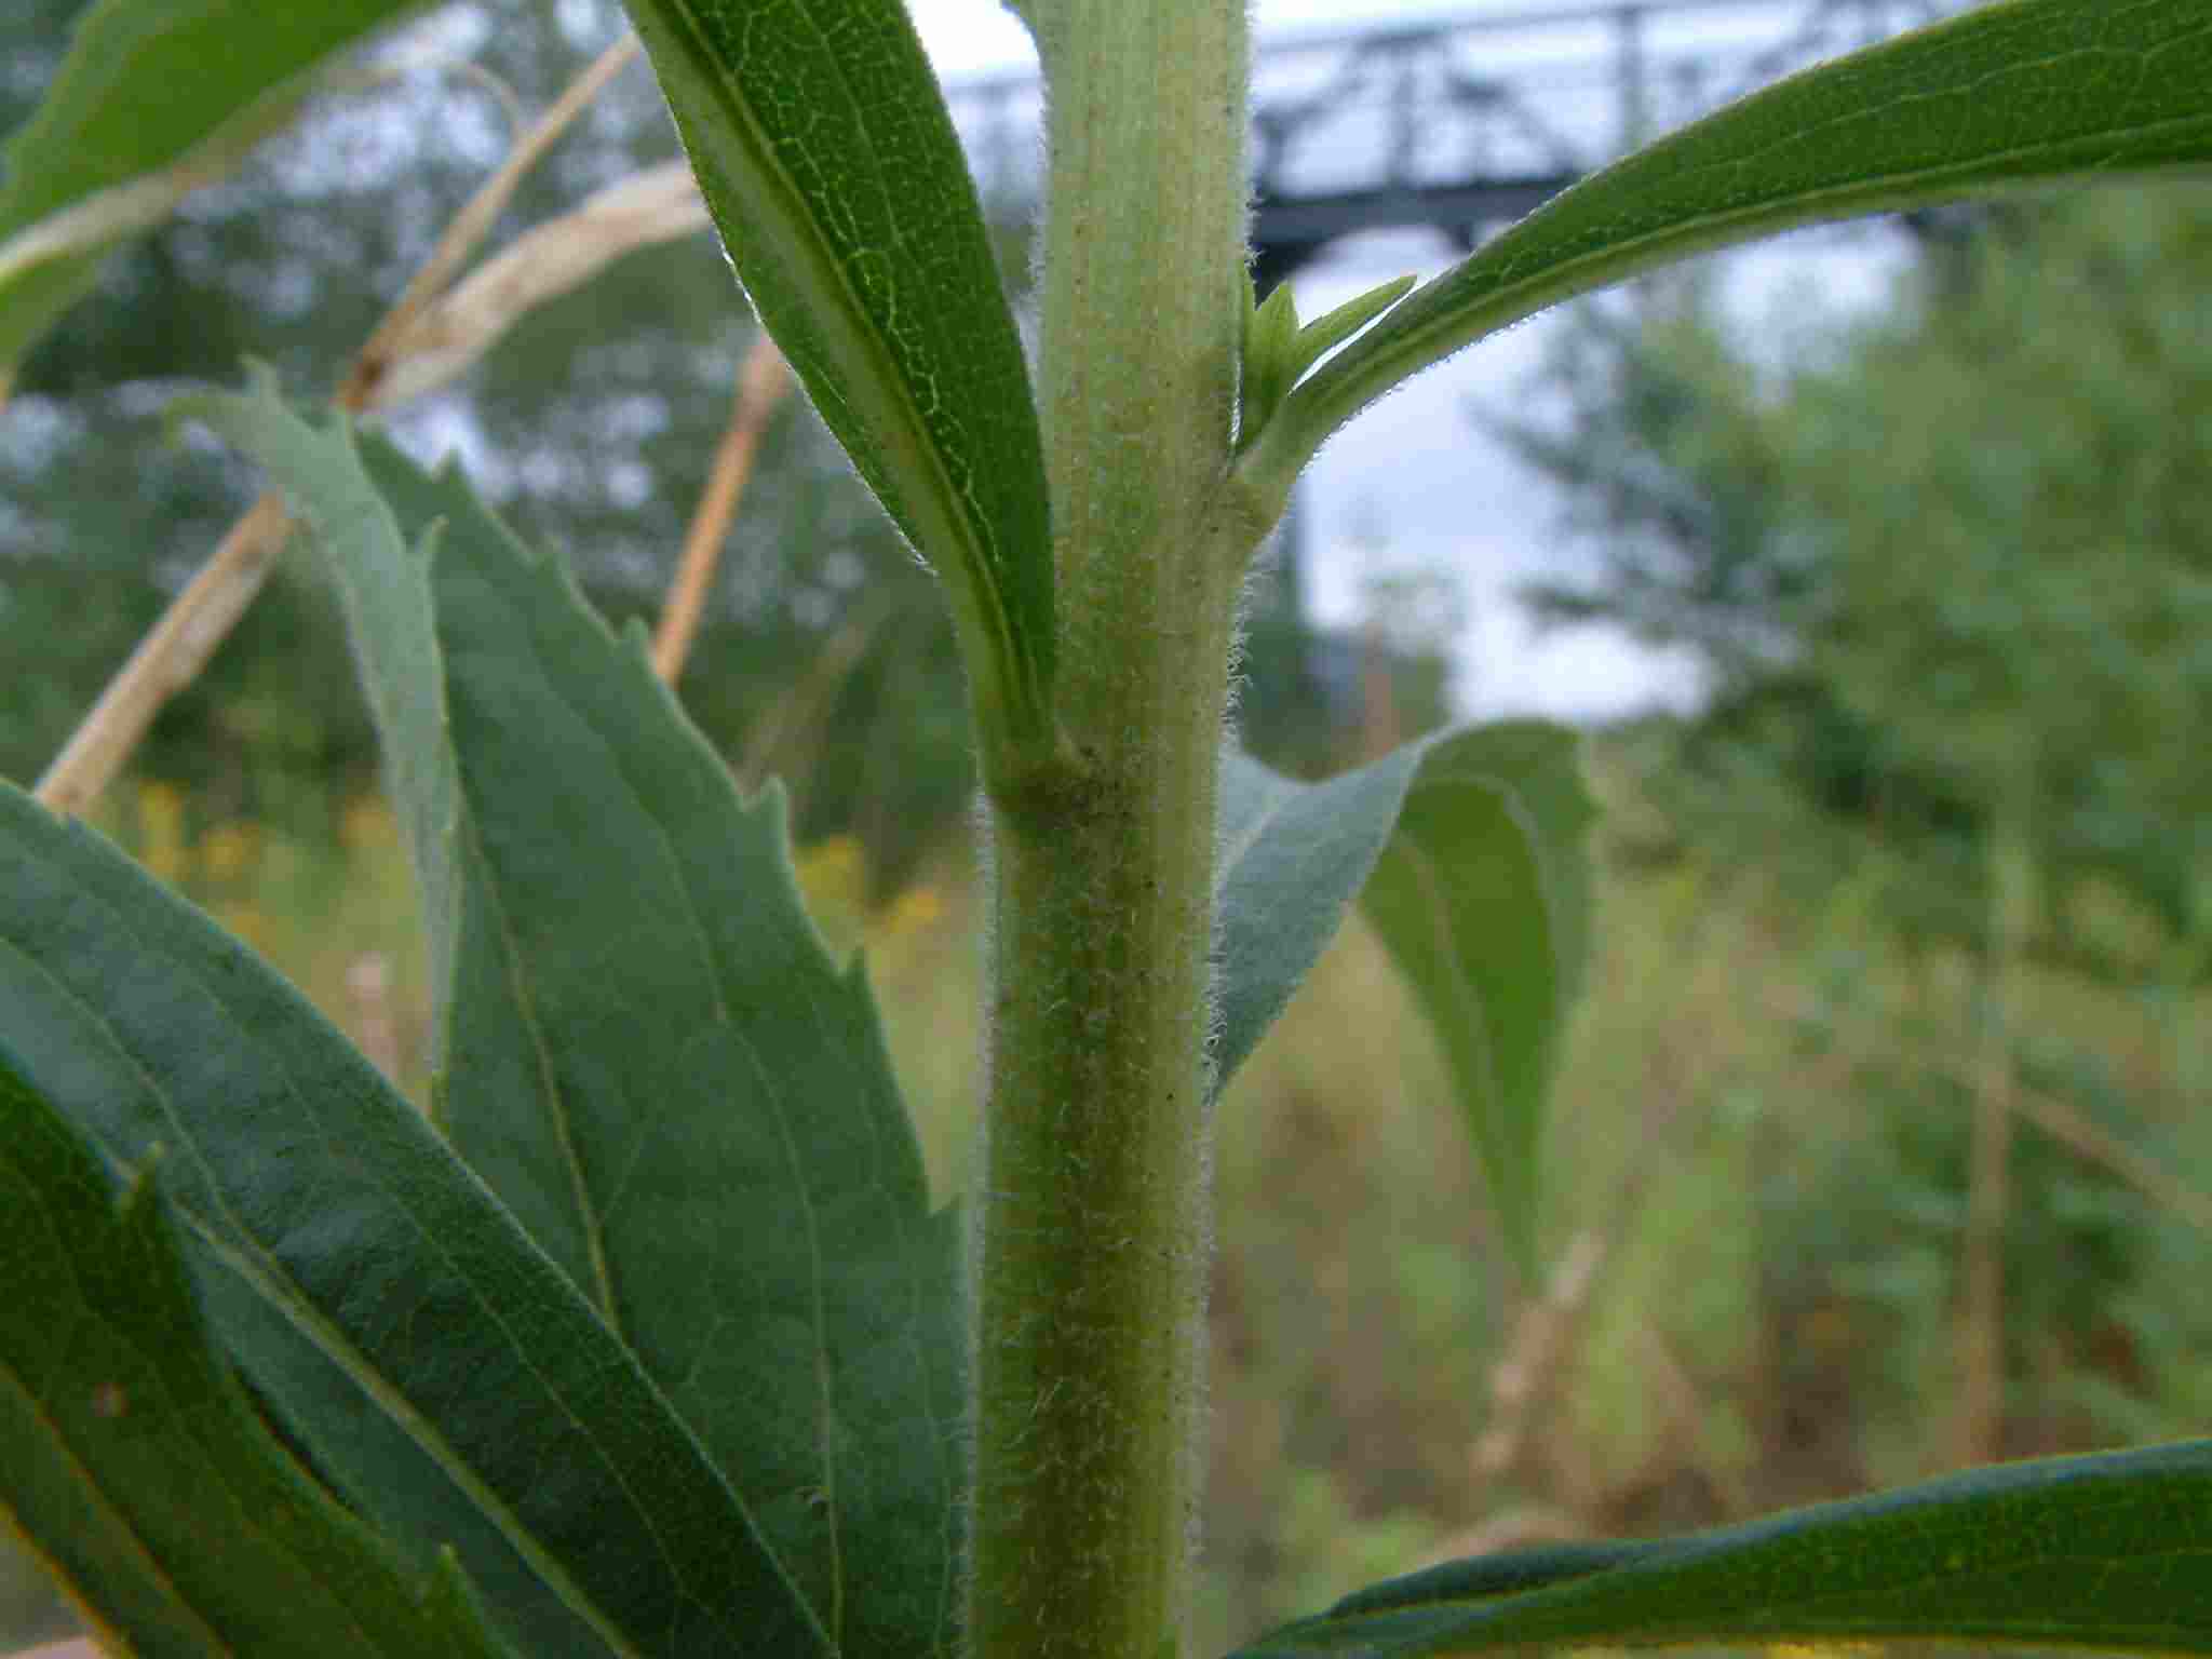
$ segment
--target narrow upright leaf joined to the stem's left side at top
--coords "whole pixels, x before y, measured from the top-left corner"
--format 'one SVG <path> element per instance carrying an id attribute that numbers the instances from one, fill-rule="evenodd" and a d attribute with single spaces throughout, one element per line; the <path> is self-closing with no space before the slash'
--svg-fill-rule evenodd
<path id="1" fill-rule="evenodd" d="M 945 580 L 987 781 L 1051 743 L 1044 451 L 975 184 L 900 0 L 630 0 L 730 263 Z"/>

